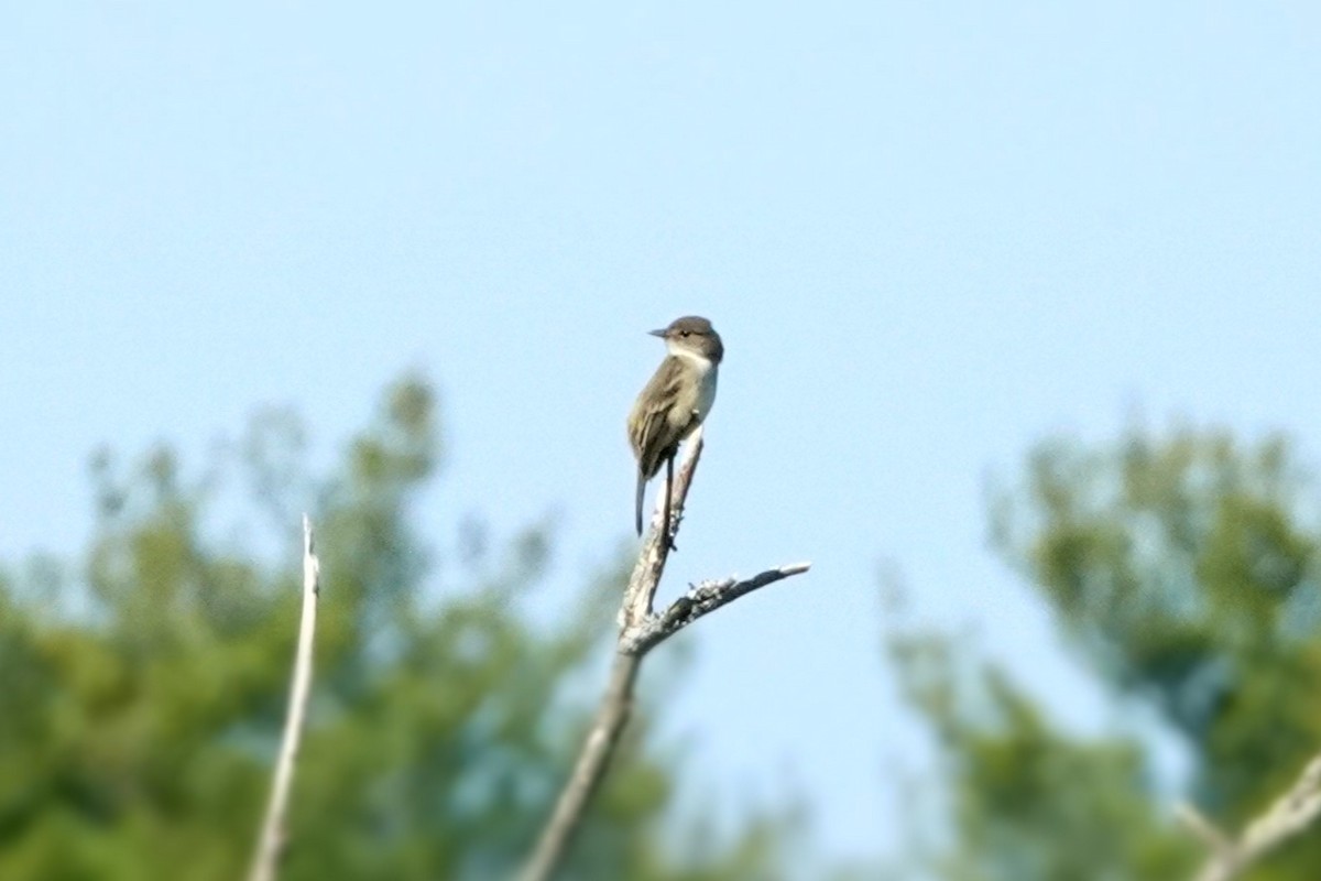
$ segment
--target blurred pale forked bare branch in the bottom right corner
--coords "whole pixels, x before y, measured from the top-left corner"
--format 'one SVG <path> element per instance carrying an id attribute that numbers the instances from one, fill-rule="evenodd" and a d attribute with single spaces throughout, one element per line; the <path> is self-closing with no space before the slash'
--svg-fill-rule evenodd
<path id="1" fill-rule="evenodd" d="M 1197 873 L 1197 881 L 1231 881 L 1244 869 L 1306 829 L 1321 814 L 1321 756 L 1316 756 L 1262 816 L 1248 823 L 1238 840 L 1229 839 L 1196 808 L 1182 806 L 1180 818 L 1207 843 L 1211 856 Z"/>

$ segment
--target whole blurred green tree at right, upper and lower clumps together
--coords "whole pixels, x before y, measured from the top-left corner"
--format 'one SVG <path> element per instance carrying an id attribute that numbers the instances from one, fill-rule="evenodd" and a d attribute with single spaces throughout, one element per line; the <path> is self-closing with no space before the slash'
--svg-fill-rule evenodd
<path id="1" fill-rule="evenodd" d="M 1192 759 L 1190 796 L 1238 829 L 1321 750 L 1316 495 L 1280 439 L 1131 431 L 1050 442 L 993 505 L 993 543 L 1116 700 L 1155 711 Z M 1079 738 L 955 641 L 889 639 L 951 775 L 950 878 L 1190 877 L 1201 847 L 1169 822 L 1131 736 Z M 1252 878 L 1314 881 L 1321 835 Z"/>

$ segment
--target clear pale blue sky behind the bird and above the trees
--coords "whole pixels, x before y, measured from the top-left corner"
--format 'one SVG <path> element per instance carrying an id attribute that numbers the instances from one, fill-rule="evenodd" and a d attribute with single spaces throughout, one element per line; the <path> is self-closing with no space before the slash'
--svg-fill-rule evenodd
<path id="1" fill-rule="evenodd" d="M 923 756 L 882 560 L 1095 724 L 987 551 L 987 476 L 1135 411 L 1321 461 L 1317 83 L 1303 3 L 9 9 L 0 555 L 79 547 L 98 444 L 197 461 L 289 403 L 334 449 L 416 367 L 428 528 L 553 512 L 567 605 L 630 531 L 643 332 L 707 314 L 663 590 L 815 567 L 686 637 L 667 729 L 695 789 L 790 781 L 828 852 L 873 852 Z"/>

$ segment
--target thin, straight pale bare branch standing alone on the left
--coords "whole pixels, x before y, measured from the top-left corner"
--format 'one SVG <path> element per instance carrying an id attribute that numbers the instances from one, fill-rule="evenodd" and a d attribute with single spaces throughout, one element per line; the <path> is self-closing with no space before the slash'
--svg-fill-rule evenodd
<path id="1" fill-rule="evenodd" d="M 273 881 L 284 845 L 288 840 L 285 816 L 289 807 L 289 789 L 293 783 L 293 765 L 303 741 L 303 724 L 312 693 L 312 641 L 317 630 L 317 597 L 321 593 L 321 563 L 312 542 L 312 520 L 303 515 L 303 621 L 299 625 L 299 647 L 293 659 L 293 682 L 289 687 L 289 709 L 284 719 L 280 758 L 275 765 L 271 800 L 266 806 L 266 819 L 258 839 L 256 853 L 248 881 Z"/>

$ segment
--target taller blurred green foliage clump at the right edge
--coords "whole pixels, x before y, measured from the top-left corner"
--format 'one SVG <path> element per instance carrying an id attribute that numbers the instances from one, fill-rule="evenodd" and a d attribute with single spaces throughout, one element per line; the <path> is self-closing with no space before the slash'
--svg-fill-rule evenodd
<path id="1" fill-rule="evenodd" d="M 1235 823 L 1321 745 L 1309 489 L 1279 439 L 1135 432 L 1044 448 L 1001 507 L 1009 559 L 1098 674 L 1186 737 L 1199 800 Z"/>

